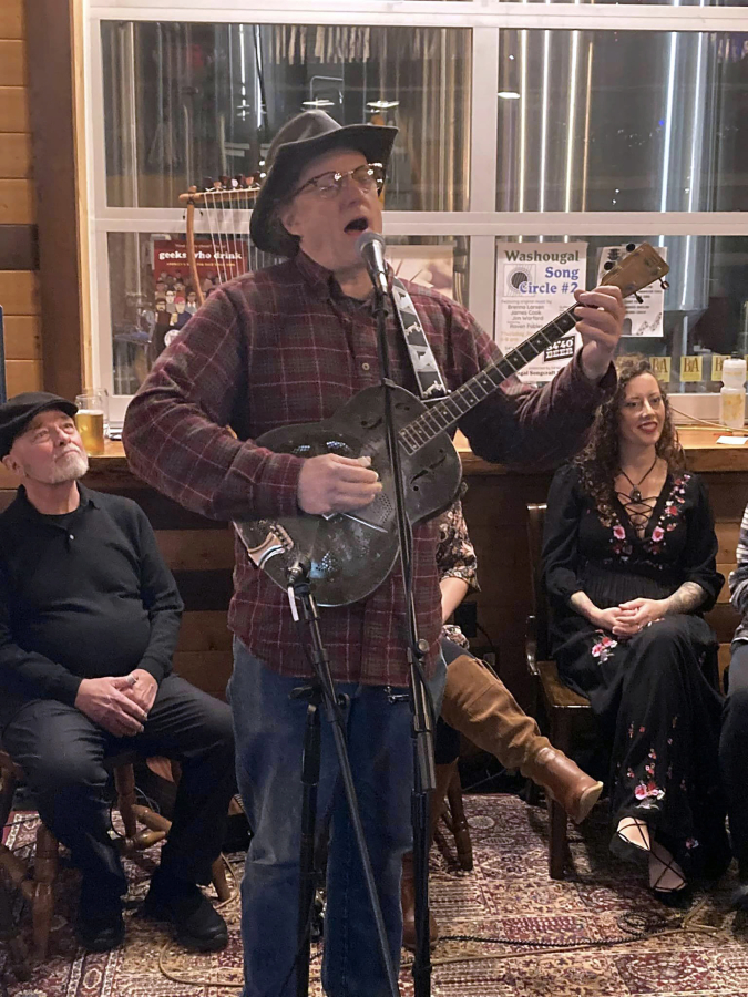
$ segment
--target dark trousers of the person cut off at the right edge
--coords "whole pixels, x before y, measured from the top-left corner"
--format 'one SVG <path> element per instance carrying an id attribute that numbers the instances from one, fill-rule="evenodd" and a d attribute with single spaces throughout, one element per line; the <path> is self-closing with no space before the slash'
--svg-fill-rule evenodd
<path id="1" fill-rule="evenodd" d="M 730 660 L 719 764 L 727 793 L 732 853 L 740 865 L 740 877 L 748 881 L 748 644 L 738 644 Z"/>

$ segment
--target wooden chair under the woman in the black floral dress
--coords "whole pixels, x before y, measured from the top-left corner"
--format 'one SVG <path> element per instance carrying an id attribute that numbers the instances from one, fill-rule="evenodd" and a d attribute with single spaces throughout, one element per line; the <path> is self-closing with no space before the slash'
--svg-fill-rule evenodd
<path id="1" fill-rule="evenodd" d="M 555 662 L 549 658 L 549 605 L 541 577 L 545 508 L 544 504 L 527 506 L 533 613 L 527 617 L 525 658 L 533 677 L 534 713 L 537 716 L 540 709 L 545 715 L 551 742 L 565 754 L 570 754 L 575 736 L 590 731 L 593 728 L 594 718 L 590 700 L 577 696 L 561 681 Z M 566 812 L 553 800 L 549 800 L 547 804 L 550 818 L 549 873 L 552 880 L 563 880 L 568 853 Z"/>

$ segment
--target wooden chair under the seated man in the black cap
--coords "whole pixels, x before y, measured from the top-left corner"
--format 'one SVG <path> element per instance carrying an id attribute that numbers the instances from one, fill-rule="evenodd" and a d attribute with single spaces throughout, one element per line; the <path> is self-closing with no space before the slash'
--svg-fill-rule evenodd
<path id="1" fill-rule="evenodd" d="M 135 752 L 112 756 L 105 759 L 106 768 L 114 774 L 117 794 L 117 810 L 124 824 L 124 836 L 119 846 L 122 855 L 137 860 L 152 845 L 163 841 L 172 826 L 172 822 L 148 806 L 136 802 L 135 773 L 133 763 Z M 23 770 L 16 764 L 7 751 L 0 746 L 0 822 L 8 822 L 13 795 L 19 782 L 24 780 Z M 139 828 L 142 824 L 142 828 Z M 58 875 L 58 840 L 41 821 L 37 829 L 37 843 L 33 863 L 27 862 L 11 850 L 0 844 L 0 870 L 21 891 L 31 906 L 34 957 L 43 960 L 49 947 L 50 928 L 53 913 L 53 888 Z M 226 882 L 224 863 L 218 857 L 213 864 L 213 884 L 219 901 L 230 896 Z"/>

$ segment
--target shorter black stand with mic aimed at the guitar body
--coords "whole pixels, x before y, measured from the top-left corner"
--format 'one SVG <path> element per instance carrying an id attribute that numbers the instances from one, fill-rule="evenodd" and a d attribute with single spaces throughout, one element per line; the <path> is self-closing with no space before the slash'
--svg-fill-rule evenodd
<path id="1" fill-rule="evenodd" d="M 363 868 L 363 878 L 366 881 L 367 893 L 371 904 L 375 924 L 377 927 L 377 942 L 385 972 L 387 975 L 388 989 L 391 997 L 399 997 L 398 981 L 395 975 L 395 967 L 390 958 L 389 943 L 387 939 L 387 931 L 382 918 L 381 907 L 379 905 L 379 895 L 377 893 L 377 884 L 371 868 L 369 859 L 369 850 L 367 849 L 366 837 L 363 836 L 363 826 L 361 824 L 361 815 L 356 799 L 356 789 L 353 787 L 353 775 L 350 770 L 350 761 L 348 759 L 348 749 L 346 746 L 346 732 L 342 715 L 340 712 L 341 700 L 345 705 L 345 697 L 338 697 L 335 691 L 332 676 L 330 674 L 330 661 L 322 644 L 321 631 L 319 628 L 319 613 L 317 603 L 311 593 L 311 584 L 309 582 L 309 564 L 299 561 L 291 568 L 288 576 L 288 602 L 290 604 L 294 620 L 299 624 L 300 617 L 298 604 L 301 606 L 304 623 L 309 629 L 311 639 L 311 648 L 309 657 L 315 669 L 315 678 L 308 686 L 294 689 L 291 697 L 295 699 L 306 699 L 309 702 L 307 709 L 307 723 L 304 734 L 304 758 L 301 763 L 301 783 L 304 787 L 301 800 L 301 850 L 300 850 L 300 885 L 299 885 L 299 911 L 298 911 L 298 947 L 296 954 L 296 995 L 297 997 L 307 997 L 309 993 L 309 952 L 311 945 L 311 908 L 315 900 L 316 877 L 315 877 L 315 825 L 317 819 L 317 789 L 319 785 L 319 768 L 320 768 L 320 724 L 319 724 L 319 707 L 322 706 L 325 716 L 332 728 L 332 737 L 335 740 L 335 749 L 338 756 L 338 764 L 340 767 L 340 778 L 348 801 L 348 812 L 350 823 L 356 836 L 361 866 Z"/>

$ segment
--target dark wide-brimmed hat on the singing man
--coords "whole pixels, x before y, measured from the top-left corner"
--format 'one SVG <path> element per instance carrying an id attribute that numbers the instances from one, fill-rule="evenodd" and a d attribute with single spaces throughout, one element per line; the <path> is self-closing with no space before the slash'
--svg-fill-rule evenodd
<path id="1" fill-rule="evenodd" d="M 355 148 L 367 163 L 387 162 L 398 130 L 385 125 L 339 125 L 325 111 L 303 111 L 273 140 L 266 157 L 267 176 L 257 195 L 249 230 L 265 253 L 295 256 L 298 239 L 283 227 L 276 208 L 294 191 L 304 167 L 334 148 Z"/>

